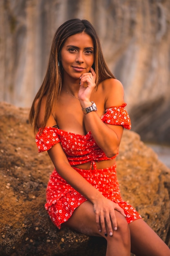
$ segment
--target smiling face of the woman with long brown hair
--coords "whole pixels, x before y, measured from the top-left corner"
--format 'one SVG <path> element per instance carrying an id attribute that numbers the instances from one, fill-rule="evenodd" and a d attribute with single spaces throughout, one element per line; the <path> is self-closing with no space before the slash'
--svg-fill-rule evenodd
<path id="1" fill-rule="evenodd" d="M 94 59 L 91 36 L 82 32 L 68 37 L 61 50 L 64 79 L 79 79 L 83 73 L 89 72 Z"/>

